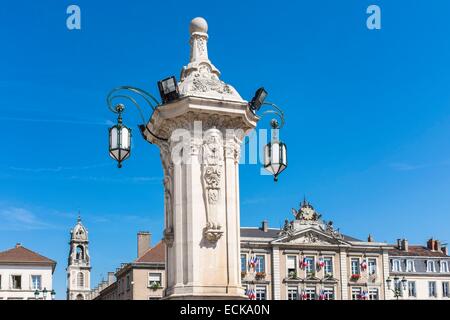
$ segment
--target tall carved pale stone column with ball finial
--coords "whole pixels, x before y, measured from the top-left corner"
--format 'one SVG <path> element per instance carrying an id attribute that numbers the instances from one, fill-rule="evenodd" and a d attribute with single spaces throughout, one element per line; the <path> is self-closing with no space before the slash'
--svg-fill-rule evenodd
<path id="1" fill-rule="evenodd" d="M 147 124 L 161 141 L 167 299 L 245 299 L 240 276 L 239 157 L 258 117 L 208 58 L 208 25 L 190 24 L 180 98 Z"/>

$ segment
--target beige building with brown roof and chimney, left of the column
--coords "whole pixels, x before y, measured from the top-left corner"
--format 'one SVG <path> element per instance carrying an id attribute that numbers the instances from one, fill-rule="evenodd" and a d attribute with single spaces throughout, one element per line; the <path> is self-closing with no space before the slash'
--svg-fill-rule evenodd
<path id="1" fill-rule="evenodd" d="M 138 256 L 110 272 L 92 291 L 94 300 L 153 300 L 161 299 L 166 288 L 166 246 L 160 241 L 151 247 L 151 234 L 139 232 Z"/>

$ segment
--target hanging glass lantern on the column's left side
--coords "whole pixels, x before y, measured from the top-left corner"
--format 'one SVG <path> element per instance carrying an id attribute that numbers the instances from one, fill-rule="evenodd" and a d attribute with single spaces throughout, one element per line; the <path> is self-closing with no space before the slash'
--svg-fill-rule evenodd
<path id="1" fill-rule="evenodd" d="M 123 104 L 116 106 L 117 124 L 109 129 L 109 155 L 118 162 L 119 168 L 131 152 L 131 129 L 122 124 L 123 110 Z"/>

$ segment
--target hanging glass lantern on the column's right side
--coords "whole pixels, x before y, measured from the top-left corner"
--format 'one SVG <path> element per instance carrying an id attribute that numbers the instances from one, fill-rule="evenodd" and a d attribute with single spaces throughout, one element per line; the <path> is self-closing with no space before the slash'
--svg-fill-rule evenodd
<path id="1" fill-rule="evenodd" d="M 287 168 L 286 144 L 278 138 L 280 128 L 278 121 L 272 120 L 272 141 L 264 147 L 264 169 L 273 174 L 274 181 L 278 181 L 278 175 Z"/>

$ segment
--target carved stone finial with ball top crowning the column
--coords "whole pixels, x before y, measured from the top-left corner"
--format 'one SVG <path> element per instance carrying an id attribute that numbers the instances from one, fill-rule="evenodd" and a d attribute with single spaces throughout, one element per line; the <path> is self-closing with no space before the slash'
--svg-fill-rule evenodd
<path id="1" fill-rule="evenodd" d="M 189 32 L 190 58 L 189 64 L 181 70 L 180 95 L 244 102 L 232 86 L 220 80 L 220 71 L 209 60 L 206 20 L 202 17 L 192 19 Z"/>

